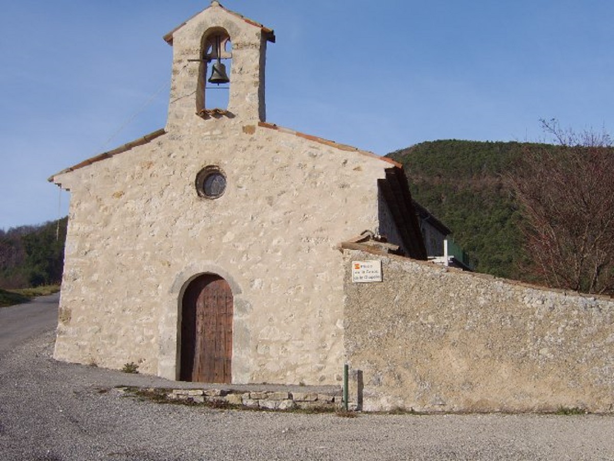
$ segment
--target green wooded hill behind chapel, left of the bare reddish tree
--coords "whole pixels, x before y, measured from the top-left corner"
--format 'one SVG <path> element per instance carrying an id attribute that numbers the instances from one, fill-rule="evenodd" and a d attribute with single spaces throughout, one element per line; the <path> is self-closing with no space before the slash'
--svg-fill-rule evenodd
<path id="1" fill-rule="evenodd" d="M 521 215 L 503 174 L 526 148 L 516 142 L 432 141 L 388 154 L 405 167 L 414 200 L 452 231 L 476 272 L 527 280 Z M 532 280 L 527 280 L 532 281 Z"/>

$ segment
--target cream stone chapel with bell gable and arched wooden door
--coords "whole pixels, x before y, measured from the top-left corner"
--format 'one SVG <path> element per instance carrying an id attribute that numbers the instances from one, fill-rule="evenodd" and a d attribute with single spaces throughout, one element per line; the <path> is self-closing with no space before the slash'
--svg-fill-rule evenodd
<path id="1" fill-rule="evenodd" d="M 71 192 L 54 357 L 339 384 L 341 243 L 367 230 L 427 258 L 402 166 L 266 120 L 270 28 L 212 1 L 164 39 L 166 127 L 50 178 Z"/>

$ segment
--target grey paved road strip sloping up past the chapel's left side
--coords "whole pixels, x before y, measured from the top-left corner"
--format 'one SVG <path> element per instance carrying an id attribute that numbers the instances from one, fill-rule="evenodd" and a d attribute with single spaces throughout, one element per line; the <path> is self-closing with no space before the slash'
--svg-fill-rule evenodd
<path id="1" fill-rule="evenodd" d="M 0 307 L 0 355 L 58 323 L 60 293 L 27 304 Z"/>

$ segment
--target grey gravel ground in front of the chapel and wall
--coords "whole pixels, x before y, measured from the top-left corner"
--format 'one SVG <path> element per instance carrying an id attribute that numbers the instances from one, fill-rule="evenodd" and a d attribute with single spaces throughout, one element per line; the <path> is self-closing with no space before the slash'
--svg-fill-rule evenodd
<path id="1" fill-rule="evenodd" d="M 1 460 L 614 460 L 614 417 L 215 410 L 140 401 L 170 382 L 52 360 L 53 331 L 0 356 Z"/>

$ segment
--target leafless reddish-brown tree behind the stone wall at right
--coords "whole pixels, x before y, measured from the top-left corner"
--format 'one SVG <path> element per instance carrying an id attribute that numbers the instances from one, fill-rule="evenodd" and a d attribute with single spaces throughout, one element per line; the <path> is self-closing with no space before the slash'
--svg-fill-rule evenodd
<path id="1" fill-rule="evenodd" d="M 614 294 L 614 149 L 607 133 L 561 130 L 531 146 L 507 175 L 524 214 L 534 275 L 550 286 Z"/>

